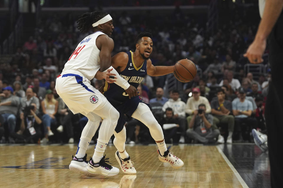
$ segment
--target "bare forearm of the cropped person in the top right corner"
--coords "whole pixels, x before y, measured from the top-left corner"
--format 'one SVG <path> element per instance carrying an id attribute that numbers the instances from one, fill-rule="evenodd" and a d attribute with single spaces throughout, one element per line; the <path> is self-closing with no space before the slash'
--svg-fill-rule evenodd
<path id="1" fill-rule="evenodd" d="M 283 8 L 283 0 L 266 0 L 255 40 L 265 40 L 274 27 Z"/>

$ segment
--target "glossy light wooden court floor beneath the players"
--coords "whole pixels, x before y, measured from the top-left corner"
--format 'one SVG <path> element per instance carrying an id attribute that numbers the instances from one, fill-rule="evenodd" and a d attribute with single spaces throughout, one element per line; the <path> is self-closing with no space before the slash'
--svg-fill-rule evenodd
<path id="1" fill-rule="evenodd" d="M 88 157 L 94 145 L 88 148 Z M 177 145 L 172 150 L 184 161 L 173 169 L 158 160 L 157 146 L 126 146 L 136 175 L 120 172 L 113 177 L 85 177 L 68 169 L 76 145 L 2 145 L 0 187 L 247 187 L 241 176 L 218 146 Z M 106 158 L 119 167 L 113 145 L 107 146 Z"/>

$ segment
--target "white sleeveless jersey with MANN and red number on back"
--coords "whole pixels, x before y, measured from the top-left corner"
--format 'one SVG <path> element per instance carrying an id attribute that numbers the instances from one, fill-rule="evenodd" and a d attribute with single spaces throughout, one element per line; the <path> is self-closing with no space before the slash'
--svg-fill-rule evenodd
<path id="1" fill-rule="evenodd" d="M 82 76 L 88 80 L 92 80 L 96 72 L 100 69 L 100 50 L 96 46 L 96 38 L 99 35 L 105 34 L 97 31 L 85 37 L 70 56 L 62 72 L 79 71 L 82 73 Z"/>

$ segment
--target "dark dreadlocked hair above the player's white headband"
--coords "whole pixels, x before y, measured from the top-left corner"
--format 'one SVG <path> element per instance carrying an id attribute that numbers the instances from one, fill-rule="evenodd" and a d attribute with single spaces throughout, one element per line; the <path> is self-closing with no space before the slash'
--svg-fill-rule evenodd
<path id="1" fill-rule="evenodd" d="M 82 33 L 87 33 L 88 30 L 92 28 L 92 24 L 106 16 L 108 13 L 105 11 L 97 10 L 93 12 L 87 12 L 83 15 L 79 16 L 79 19 L 77 21 L 77 28 Z"/>

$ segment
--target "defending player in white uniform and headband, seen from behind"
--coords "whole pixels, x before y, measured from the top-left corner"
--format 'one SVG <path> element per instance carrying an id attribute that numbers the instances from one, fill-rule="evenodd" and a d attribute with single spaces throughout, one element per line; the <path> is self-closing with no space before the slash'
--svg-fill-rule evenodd
<path id="1" fill-rule="evenodd" d="M 69 168 L 88 176 L 114 176 L 119 173 L 119 169 L 107 164 L 108 158 L 105 159 L 103 154 L 117 125 L 119 112 L 90 84 L 89 80 L 100 70 L 106 79 L 109 78 L 109 74 L 116 74 L 115 83 L 129 92 L 130 97 L 136 96 L 137 91 L 121 78 L 115 69 L 108 69 L 111 67 L 111 51 L 114 47 L 113 40 L 109 37 L 114 29 L 111 16 L 104 11 L 94 11 L 81 15 L 77 23 L 81 32 L 86 33 L 92 28 L 94 33 L 78 44 L 62 73 L 57 77 L 55 86 L 57 93 L 74 114 L 81 113 L 88 117 L 86 129 L 82 132 L 77 153 Z M 103 121 L 95 152 L 92 159 L 87 162 L 85 151 L 98 129 L 101 117 Z"/>

